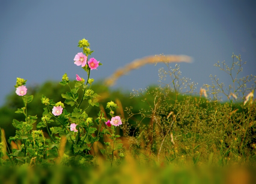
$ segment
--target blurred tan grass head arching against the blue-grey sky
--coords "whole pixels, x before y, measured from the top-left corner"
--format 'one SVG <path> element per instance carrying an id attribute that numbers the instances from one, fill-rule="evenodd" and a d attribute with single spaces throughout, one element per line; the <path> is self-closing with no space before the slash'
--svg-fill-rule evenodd
<path id="1" fill-rule="evenodd" d="M 136 59 L 132 61 L 132 63 L 127 64 L 123 68 L 119 68 L 113 73 L 109 78 L 106 79 L 106 85 L 112 86 L 115 84 L 116 80 L 122 75 L 127 74 L 129 71 L 140 68 L 146 64 L 153 63 L 179 63 L 179 62 L 187 62 L 191 63 L 192 58 L 190 56 L 185 55 L 156 55 L 156 56 L 147 56 L 142 59 Z"/>

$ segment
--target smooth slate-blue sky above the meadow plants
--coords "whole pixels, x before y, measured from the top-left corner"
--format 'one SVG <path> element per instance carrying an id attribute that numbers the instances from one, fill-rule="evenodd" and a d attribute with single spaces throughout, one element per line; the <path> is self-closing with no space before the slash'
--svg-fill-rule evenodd
<path id="1" fill-rule="evenodd" d="M 103 64 L 91 72 L 95 81 L 135 59 L 163 53 L 193 58 L 180 63 L 180 70 L 198 83 L 197 90 L 212 84 L 210 74 L 228 86 L 230 76 L 214 64 L 230 65 L 232 53 L 247 62 L 239 77 L 256 75 L 255 9 L 255 0 L 1 0 L 0 106 L 15 91 L 17 77 L 27 79 L 27 86 L 61 81 L 65 73 L 86 78 L 74 64 L 83 38 L 94 50 L 91 57 Z M 158 84 L 160 67 L 133 70 L 112 89 L 132 92 Z"/>

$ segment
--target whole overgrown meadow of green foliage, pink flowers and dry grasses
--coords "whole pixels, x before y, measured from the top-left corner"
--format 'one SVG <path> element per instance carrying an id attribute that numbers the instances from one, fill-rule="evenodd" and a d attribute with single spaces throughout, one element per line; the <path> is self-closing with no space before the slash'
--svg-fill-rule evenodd
<path id="1" fill-rule="evenodd" d="M 1 181 L 16 183 L 250 183 L 256 161 L 256 76 L 238 78 L 241 56 L 218 62 L 233 84 L 199 86 L 182 77 L 188 56 L 149 56 L 94 82 L 102 64 L 88 40 L 74 63 L 88 75 L 25 87 L 0 109 Z M 85 55 L 84 55 L 85 54 Z M 122 75 L 164 63 L 159 84 L 111 91 Z M 12 123 L 12 125 L 11 125 Z"/>

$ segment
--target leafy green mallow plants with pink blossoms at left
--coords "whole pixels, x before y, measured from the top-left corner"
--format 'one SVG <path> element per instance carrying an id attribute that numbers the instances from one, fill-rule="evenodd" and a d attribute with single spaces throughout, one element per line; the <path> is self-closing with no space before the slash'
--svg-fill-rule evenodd
<path id="1" fill-rule="evenodd" d="M 61 85 L 67 85 L 70 91 L 62 94 L 66 105 L 75 106 L 73 112 L 67 112 L 63 102 L 55 103 L 53 99 L 49 99 L 42 95 L 41 102 L 45 105 L 44 113 L 41 121 L 37 123 L 37 128 L 45 128 L 48 136 L 44 136 L 42 130 L 34 130 L 34 123 L 37 122 L 37 116 L 28 115 L 27 103 L 33 100 L 33 95 L 25 96 L 27 88 L 24 86 L 27 80 L 17 78 L 16 93 L 22 96 L 24 107 L 18 109 L 16 113 L 24 114 L 25 121 L 13 120 L 13 126 L 17 129 L 15 137 L 10 137 L 10 144 L 16 144 L 17 147 L 8 153 L 6 164 L 15 165 L 30 164 L 34 166 L 51 166 L 54 163 L 62 163 L 65 166 L 81 166 L 85 167 L 92 164 L 93 156 L 90 155 L 92 146 L 99 141 L 100 136 L 109 134 L 109 131 L 101 130 L 102 123 L 106 122 L 104 113 L 100 110 L 98 118 L 93 122 L 93 118 L 89 117 L 86 110 L 90 106 L 99 106 L 98 98 L 100 97 L 92 89 L 91 85 L 94 79 L 89 78 L 91 70 L 101 65 L 99 61 L 93 57 L 88 61 L 88 55 L 93 51 L 89 49 L 88 40 L 79 40 L 78 46 L 83 48 L 83 53 L 75 55 L 74 63 L 87 72 L 87 80 L 76 74 L 75 88 L 71 88 L 68 75 L 62 76 Z M 79 98 L 78 90 L 82 89 L 83 94 Z M 87 102 L 86 100 L 87 99 Z M 83 108 L 82 108 L 83 103 Z M 87 107 L 86 107 L 87 104 Z M 84 107 L 85 106 L 85 107 Z M 112 108 L 116 108 L 113 106 Z M 122 124 L 119 116 L 113 117 L 110 123 L 114 126 Z M 57 126 L 49 126 L 53 122 Z M 98 128 L 96 128 L 98 127 Z M 109 127 L 109 126 L 108 126 Z M 111 128 L 110 131 L 114 131 Z M 115 134 L 115 131 L 113 132 Z M 115 135 L 112 138 L 118 137 Z M 65 145 L 69 146 L 69 151 L 65 152 Z M 116 142 L 116 139 L 114 140 Z M 0 152 L 3 146 L 0 144 Z M 116 150 L 116 149 L 115 149 Z M 65 152 L 65 153 L 64 153 Z M 3 155 L 0 155 L 2 159 Z M 112 159 L 113 160 L 113 159 Z M 2 161 L 2 160 L 1 160 Z M 113 162 L 113 161 L 112 161 Z M 111 162 L 111 163 L 112 163 Z M 2 162 L 1 162 L 2 163 Z"/>

